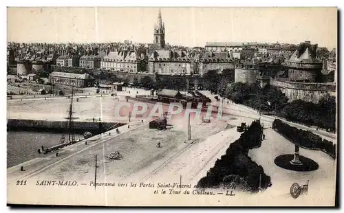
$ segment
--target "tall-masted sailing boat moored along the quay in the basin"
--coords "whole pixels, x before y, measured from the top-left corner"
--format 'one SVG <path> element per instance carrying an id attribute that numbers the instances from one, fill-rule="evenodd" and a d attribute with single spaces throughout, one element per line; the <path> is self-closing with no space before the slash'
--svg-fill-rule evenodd
<path id="1" fill-rule="evenodd" d="M 41 154 L 41 152 L 43 152 L 44 154 L 47 154 L 54 150 L 58 150 L 59 148 L 69 146 L 80 141 L 79 139 L 78 140 L 75 139 L 75 135 L 73 133 L 73 129 L 74 129 L 74 122 L 73 122 L 73 116 L 72 116 L 73 115 L 73 95 L 74 95 L 74 87 L 72 87 L 72 96 L 71 96 L 71 102 L 69 104 L 66 131 L 61 136 L 60 144 L 56 146 L 52 146 L 50 148 L 44 148 L 43 146 L 41 146 L 41 148 L 38 150 L 38 153 Z M 67 142 L 65 141 L 66 136 L 67 136 Z"/>

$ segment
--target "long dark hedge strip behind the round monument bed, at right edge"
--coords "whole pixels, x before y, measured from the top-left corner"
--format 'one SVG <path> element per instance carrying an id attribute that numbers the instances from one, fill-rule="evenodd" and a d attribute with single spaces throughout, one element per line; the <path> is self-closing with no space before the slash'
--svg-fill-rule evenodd
<path id="1" fill-rule="evenodd" d="M 276 119 L 274 122 L 272 122 L 272 128 L 294 144 L 297 144 L 303 148 L 322 150 L 324 153 L 327 153 L 334 159 L 336 158 L 335 145 L 326 139 L 322 139 L 319 135 L 315 135 L 311 131 L 304 131 L 293 126 L 289 126 L 279 119 Z"/>

